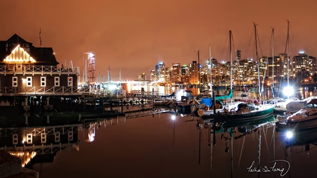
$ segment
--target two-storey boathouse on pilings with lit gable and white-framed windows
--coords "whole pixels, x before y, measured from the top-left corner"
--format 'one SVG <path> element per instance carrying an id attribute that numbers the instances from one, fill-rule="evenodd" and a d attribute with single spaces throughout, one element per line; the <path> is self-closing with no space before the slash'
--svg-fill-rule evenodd
<path id="1" fill-rule="evenodd" d="M 35 47 L 13 34 L 0 41 L 0 94 L 11 97 L 11 106 L 42 106 L 52 109 L 49 97 L 80 96 L 79 67 L 58 65 L 50 47 Z M 63 100 L 63 99 L 62 99 Z M 59 98 L 61 101 L 61 98 Z"/>

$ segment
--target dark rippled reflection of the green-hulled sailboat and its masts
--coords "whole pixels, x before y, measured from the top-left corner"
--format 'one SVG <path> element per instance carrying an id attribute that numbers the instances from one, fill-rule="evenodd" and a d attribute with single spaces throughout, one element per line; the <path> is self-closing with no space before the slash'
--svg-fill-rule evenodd
<path id="1" fill-rule="evenodd" d="M 209 137 L 211 140 L 210 143 L 212 143 L 210 144 L 211 156 L 213 156 L 213 149 L 216 149 L 216 142 L 224 141 L 225 153 L 228 153 L 228 156 L 230 156 L 230 177 L 233 177 L 233 174 L 245 174 L 246 172 L 241 173 L 242 169 L 237 169 L 237 167 L 240 167 L 241 160 L 246 160 L 242 153 L 245 152 L 243 150 L 249 150 L 249 144 L 245 146 L 247 148 L 244 148 L 244 141 L 247 138 L 247 135 L 253 135 L 253 138 L 257 140 L 254 140 L 253 144 L 257 142 L 258 155 L 256 159 L 250 161 L 251 166 L 249 167 L 248 172 L 252 172 L 253 174 L 254 172 L 258 173 L 259 177 L 260 174 L 263 174 L 261 173 L 261 170 L 263 169 L 263 163 L 261 163 L 261 148 L 263 147 L 261 146 L 261 136 L 264 135 L 264 138 L 266 138 L 268 128 L 275 127 L 275 121 L 274 115 L 268 115 L 267 117 L 261 117 L 260 119 L 256 118 L 254 120 L 231 120 L 225 122 L 209 122 L 208 124 L 205 122 L 204 128 L 209 128 L 209 132 L 211 133 Z M 201 122 L 201 124 L 202 123 L 204 122 Z M 218 141 L 216 141 L 216 134 L 220 134 L 220 140 Z M 240 139 L 242 139 L 242 144 L 240 143 L 237 145 L 237 141 L 234 140 Z M 215 148 L 213 148 L 213 146 L 215 146 Z M 267 142 L 266 146 L 268 146 Z M 240 152 L 239 155 L 237 155 L 237 152 Z M 247 154 L 249 158 L 252 158 L 251 153 Z M 218 166 L 218 164 L 213 165 L 213 159 L 211 158 L 211 174 L 213 174 L 212 172 Z M 252 175 L 249 174 L 249 176 Z"/>

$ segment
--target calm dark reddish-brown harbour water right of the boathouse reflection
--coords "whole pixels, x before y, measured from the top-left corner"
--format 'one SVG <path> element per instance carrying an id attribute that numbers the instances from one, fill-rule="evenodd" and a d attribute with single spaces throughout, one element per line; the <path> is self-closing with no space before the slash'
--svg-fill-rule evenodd
<path id="1" fill-rule="evenodd" d="M 56 154 L 53 163 L 33 167 L 40 177 L 54 178 L 309 177 L 316 173 L 313 144 L 309 151 L 305 146 L 285 148 L 285 133 L 269 127 L 245 136 L 236 131 L 232 142 L 226 139 L 228 134 L 216 134 L 216 146 L 209 146 L 209 129 L 199 130 L 195 119 L 178 115 L 173 121 L 170 113 L 161 113 L 119 120 L 116 125 L 101 125 L 92 142 L 87 130 L 79 131 L 79 151 L 66 148 Z M 296 140 L 299 143 L 307 137 L 314 142 L 317 132 L 297 136 Z"/>

